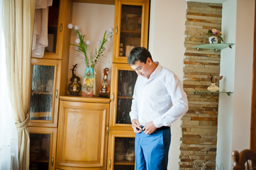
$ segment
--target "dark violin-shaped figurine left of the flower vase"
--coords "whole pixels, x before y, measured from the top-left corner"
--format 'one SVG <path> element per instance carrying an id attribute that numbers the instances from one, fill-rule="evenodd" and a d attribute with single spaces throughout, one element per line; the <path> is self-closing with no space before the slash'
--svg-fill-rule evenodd
<path id="1" fill-rule="evenodd" d="M 77 64 L 73 65 L 72 70 L 72 77 L 70 79 L 71 83 L 68 85 L 68 91 L 71 96 L 78 96 L 79 92 L 81 91 L 82 85 L 79 83 L 80 78 L 74 74 L 74 69 L 77 67 Z"/>

